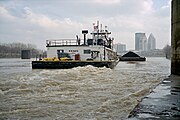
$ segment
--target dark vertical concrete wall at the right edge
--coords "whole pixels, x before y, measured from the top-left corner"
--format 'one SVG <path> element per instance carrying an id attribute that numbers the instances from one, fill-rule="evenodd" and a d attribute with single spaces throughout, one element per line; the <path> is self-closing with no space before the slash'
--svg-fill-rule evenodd
<path id="1" fill-rule="evenodd" d="M 180 0 L 172 0 L 171 12 L 171 74 L 180 75 Z"/>

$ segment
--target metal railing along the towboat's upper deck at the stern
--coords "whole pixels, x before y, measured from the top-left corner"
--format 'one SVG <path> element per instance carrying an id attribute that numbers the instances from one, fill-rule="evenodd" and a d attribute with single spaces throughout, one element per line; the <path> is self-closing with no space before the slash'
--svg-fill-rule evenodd
<path id="1" fill-rule="evenodd" d="M 56 39 L 46 40 L 47 46 L 61 46 L 61 45 L 82 45 L 82 40 L 77 39 Z"/>

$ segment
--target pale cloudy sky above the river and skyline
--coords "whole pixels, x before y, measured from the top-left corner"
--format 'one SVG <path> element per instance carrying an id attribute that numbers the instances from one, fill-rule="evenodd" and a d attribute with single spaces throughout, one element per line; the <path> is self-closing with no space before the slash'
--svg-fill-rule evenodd
<path id="1" fill-rule="evenodd" d="M 83 37 L 81 30 L 92 31 L 99 20 L 129 50 L 136 32 L 152 33 L 163 48 L 170 44 L 170 19 L 170 0 L 0 0 L 0 43 L 46 49 L 47 39 Z"/>

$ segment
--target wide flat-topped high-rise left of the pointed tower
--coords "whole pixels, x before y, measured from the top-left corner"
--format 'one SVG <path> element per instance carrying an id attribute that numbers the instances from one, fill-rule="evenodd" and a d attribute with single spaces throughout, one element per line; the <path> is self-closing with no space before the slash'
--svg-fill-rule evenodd
<path id="1" fill-rule="evenodd" d="M 147 37 L 145 33 L 135 33 L 135 50 L 147 50 Z"/>

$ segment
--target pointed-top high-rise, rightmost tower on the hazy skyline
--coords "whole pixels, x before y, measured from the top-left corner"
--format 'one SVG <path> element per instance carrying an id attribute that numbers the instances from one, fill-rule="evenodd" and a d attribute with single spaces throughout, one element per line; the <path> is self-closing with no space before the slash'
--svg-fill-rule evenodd
<path id="1" fill-rule="evenodd" d="M 151 33 L 148 38 L 148 50 L 156 49 L 156 39 Z"/>

